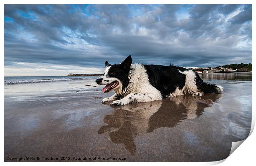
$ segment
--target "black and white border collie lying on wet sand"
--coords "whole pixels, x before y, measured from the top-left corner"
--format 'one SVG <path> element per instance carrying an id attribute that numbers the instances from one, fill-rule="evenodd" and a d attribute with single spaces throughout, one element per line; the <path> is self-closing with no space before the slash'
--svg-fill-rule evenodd
<path id="1" fill-rule="evenodd" d="M 131 102 L 148 102 L 180 95 L 201 96 L 204 93 L 222 93 L 223 87 L 204 83 L 197 73 L 173 65 L 142 65 L 133 63 L 129 55 L 121 64 L 105 62 L 105 73 L 96 80 L 106 85 L 102 92 L 116 93 L 102 103 L 122 106 Z"/>

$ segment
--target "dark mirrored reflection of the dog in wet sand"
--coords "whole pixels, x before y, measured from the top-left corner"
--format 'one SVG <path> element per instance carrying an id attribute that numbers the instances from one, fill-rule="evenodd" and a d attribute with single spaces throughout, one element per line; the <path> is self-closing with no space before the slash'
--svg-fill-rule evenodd
<path id="1" fill-rule="evenodd" d="M 114 108 L 112 115 L 106 115 L 98 133 L 107 133 L 113 143 L 121 143 L 135 154 L 135 135 L 154 131 L 159 127 L 174 127 L 185 118 L 197 118 L 204 108 L 211 106 L 220 94 L 200 97 L 178 96 L 170 99 L 134 103 Z"/>

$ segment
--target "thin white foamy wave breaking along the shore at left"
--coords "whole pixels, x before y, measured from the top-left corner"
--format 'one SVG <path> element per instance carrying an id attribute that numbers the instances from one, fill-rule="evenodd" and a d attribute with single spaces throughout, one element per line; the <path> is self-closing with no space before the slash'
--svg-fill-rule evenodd
<path id="1" fill-rule="evenodd" d="M 72 80 L 85 80 L 90 78 L 55 78 L 55 79 L 38 79 L 38 80 L 20 80 L 5 82 L 5 85 L 24 84 L 24 83 L 44 83 L 44 82 L 57 82 L 57 81 L 72 81 Z"/>

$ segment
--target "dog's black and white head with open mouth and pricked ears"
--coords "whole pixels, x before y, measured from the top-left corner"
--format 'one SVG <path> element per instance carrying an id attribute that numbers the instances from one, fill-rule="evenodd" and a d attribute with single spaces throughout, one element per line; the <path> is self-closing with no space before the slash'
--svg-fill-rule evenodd
<path id="1" fill-rule="evenodd" d="M 105 62 L 104 75 L 96 80 L 99 85 L 106 85 L 102 92 L 110 92 L 118 88 L 125 88 L 129 83 L 128 74 L 130 71 L 130 65 L 132 64 L 132 57 L 129 55 L 121 64 L 110 65 Z"/>

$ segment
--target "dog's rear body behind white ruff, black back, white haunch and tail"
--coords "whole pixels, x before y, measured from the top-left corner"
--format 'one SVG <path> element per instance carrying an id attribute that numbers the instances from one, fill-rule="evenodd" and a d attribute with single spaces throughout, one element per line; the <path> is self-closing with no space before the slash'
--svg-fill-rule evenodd
<path id="1" fill-rule="evenodd" d="M 179 95 L 220 93 L 223 88 L 204 83 L 192 70 L 177 66 L 144 65 L 149 82 L 161 92 L 163 98 Z"/>

